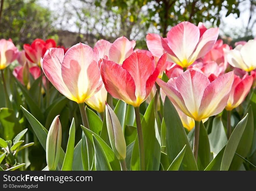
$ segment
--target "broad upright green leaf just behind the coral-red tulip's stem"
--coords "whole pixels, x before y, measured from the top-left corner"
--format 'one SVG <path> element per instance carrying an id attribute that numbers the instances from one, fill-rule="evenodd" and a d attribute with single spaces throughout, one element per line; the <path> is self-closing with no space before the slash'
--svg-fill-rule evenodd
<path id="1" fill-rule="evenodd" d="M 155 106 L 154 99 L 152 99 L 141 122 L 145 151 L 145 170 L 159 170 L 160 165 L 161 138 L 155 118 L 155 110 L 157 110 L 157 105 Z M 131 155 L 131 170 L 140 170 L 138 138 L 135 140 Z"/>

